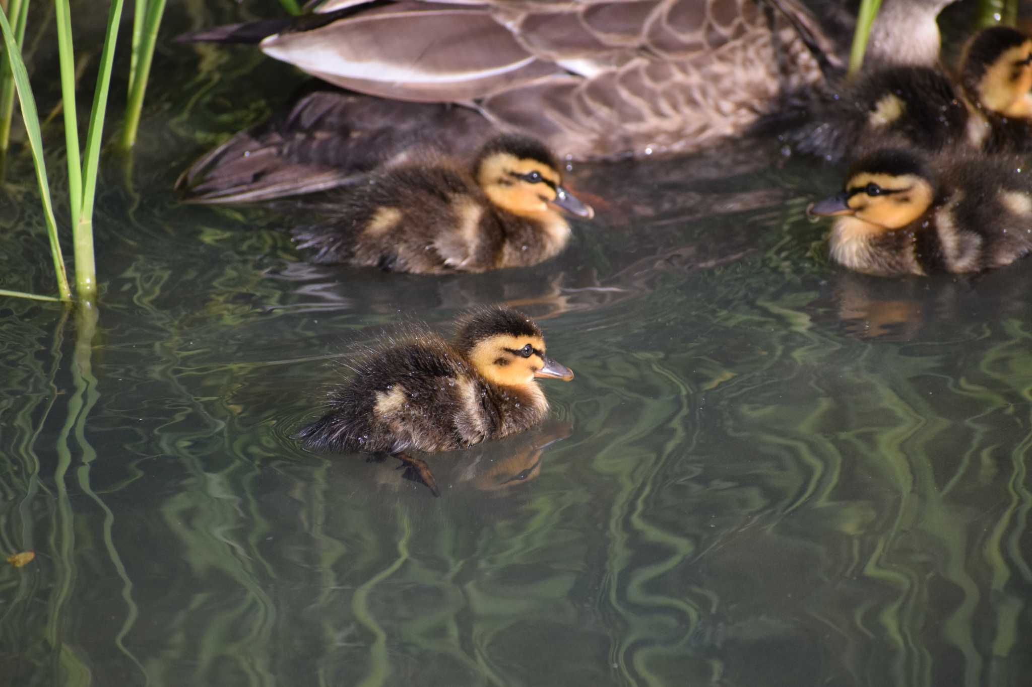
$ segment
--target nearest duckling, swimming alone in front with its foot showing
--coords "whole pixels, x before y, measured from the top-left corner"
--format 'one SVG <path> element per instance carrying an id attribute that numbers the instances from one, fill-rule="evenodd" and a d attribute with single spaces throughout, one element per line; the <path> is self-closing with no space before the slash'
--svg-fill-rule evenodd
<path id="1" fill-rule="evenodd" d="M 505 306 L 458 320 L 452 342 L 425 331 L 368 351 L 355 376 L 330 392 L 328 412 L 302 427 L 305 448 L 399 458 L 440 495 L 425 460 L 409 451 L 450 451 L 540 422 L 548 400 L 536 378 L 574 373 L 545 354 L 541 329 Z"/>

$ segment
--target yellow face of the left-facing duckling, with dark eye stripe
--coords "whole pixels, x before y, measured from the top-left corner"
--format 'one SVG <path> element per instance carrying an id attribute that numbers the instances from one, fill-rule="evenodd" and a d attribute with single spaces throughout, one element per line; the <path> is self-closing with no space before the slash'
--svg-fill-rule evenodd
<path id="1" fill-rule="evenodd" d="M 932 205 L 932 185 L 915 174 L 857 174 L 846 183 L 852 215 L 871 232 L 906 227 Z M 874 194 L 870 192 L 876 192 Z"/>

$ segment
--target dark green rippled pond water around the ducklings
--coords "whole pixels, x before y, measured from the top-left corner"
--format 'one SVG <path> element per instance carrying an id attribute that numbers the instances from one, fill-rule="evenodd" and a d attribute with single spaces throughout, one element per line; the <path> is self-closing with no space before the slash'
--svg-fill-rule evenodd
<path id="1" fill-rule="evenodd" d="M 0 682 L 1028 684 L 1028 263 L 845 273 L 804 218 L 841 170 L 771 145 L 577 166 L 599 215 L 533 269 L 313 267 L 293 217 L 171 191 L 296 75 L 244 47 L 155 69 L 104 160 L 98 307 L 0 301 L 0 551 L 36 553 L 0 563 Z M 0 287 L 50 293 L 21 147 L 0 232 Z M 499 302 L 577 378 L 540 428 L 429 456 L 440 499 L 291 438 L 349 347 Z"/>

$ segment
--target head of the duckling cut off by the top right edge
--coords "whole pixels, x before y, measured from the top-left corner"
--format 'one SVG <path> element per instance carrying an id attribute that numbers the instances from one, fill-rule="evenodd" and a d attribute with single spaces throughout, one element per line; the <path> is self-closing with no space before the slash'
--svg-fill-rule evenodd
<path id="1" fill-rule="evenodd" d="M 1032 149 L 1032 38 L 1004 26 L 979 31 L 961 54 L 960 82 L 974 145 L 989 152 Z"/>

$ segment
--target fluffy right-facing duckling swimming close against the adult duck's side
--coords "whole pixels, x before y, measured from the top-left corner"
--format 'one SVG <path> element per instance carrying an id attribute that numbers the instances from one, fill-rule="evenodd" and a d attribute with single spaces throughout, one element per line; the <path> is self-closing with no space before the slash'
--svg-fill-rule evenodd
<path id="1" fill-rule="evenodd" d="M 295 231 L 315 263 L 396 272 L 484 272 L 537 265 L 570 240 L 565 210 L 594 211 L 562 187 L 552 153 L 538 141 L 488 141 L 471 169 L 454 161 L 412 163 L 373 174 L 333 206 L 334 217 Z"/>

